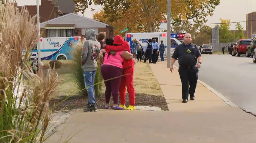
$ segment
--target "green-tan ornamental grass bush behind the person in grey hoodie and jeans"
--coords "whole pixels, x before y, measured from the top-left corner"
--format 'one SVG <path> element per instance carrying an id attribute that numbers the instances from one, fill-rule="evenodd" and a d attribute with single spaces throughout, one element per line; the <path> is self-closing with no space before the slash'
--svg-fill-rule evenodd
<path id="1" fill-rule="evenodd" d="M 85 81 L 84 81 L 84 70 L 81 68 L 81 55 L 82 55 L 82 48 L 84 45 L 84 42 L 86 40 L 76 43 L 73 48 L 73 63 L 71 65 L 72 68 L 72 78 L 74 84 L 77 86 L 77 88 L 81 91 L 82 95 L 87 96 L 86 88 L 85 88 Z M 98 95 L 99 91 L 101 90 L 101 82 L 102 77 L 100 73 L 100 66 L 101 66 L 101 59 L 102 59 L 102 53 L 100 53 L 98 57 L 98 68 L 96 71 L 95 76 L 95 96 Z"/>

